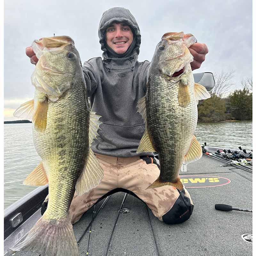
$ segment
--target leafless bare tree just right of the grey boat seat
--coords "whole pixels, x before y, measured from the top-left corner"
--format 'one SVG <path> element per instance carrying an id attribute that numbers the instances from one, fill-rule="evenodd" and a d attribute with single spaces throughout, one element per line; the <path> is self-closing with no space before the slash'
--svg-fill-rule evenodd
<path id="1" fill-rule="evenodd" d="M 215 94 L 219 97 L 223 97 L 230 92 L 235 83 L 232 81 L 235 70 L 231 70 L 227 73 L 221 71 L 221 73 L 214 74 L 215 86 L 213 87 L 211 94 Z"/>

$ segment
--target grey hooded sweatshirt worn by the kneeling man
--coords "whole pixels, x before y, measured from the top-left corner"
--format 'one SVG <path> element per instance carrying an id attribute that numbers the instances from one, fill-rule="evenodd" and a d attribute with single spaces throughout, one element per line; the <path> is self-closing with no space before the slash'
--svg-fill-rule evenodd
<path id="1" fill-rule="evenodd" d="M 133 30 L 132 48 L 122 55 L 111 54 L 105 45 L 105 30 L 114 21 L 125 22 Z M 98 140 L 92 143 L 92 150 L 108 156 L 138 156 L 136 151 L 145 131 L 145 124 L 136 106 L 138 100 L 145 96 L 150 65 L 148 60 L 138 61 L 140 28 L 129 10 L 114 7 L 102 14 L 98 34 L 103 59 L 93 58 L 84 62 L 83 66 L 92 111 L 102 116 L 100 121 L 103 123 L 98 131 Z M 203 80 L 204 74 L 199 77 L 198 81 Z M 213 87 L 212 79 L 213 76 L 206 79 L 207 82 L 210 81 L 210 89 Z"/>

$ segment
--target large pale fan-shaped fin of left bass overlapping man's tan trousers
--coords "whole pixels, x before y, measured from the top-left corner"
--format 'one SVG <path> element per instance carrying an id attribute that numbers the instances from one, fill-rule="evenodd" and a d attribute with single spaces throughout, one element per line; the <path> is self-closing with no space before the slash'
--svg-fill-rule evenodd
<path id="1" fill-rule="evenodd" d="M 76 182 L 76 194 L 81 196 L 100 184 L 104 174 L 91 148 L 84 169 Z"/>

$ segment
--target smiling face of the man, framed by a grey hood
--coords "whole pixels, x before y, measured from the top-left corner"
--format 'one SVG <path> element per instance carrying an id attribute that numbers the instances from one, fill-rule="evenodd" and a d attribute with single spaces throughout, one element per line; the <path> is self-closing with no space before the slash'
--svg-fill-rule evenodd
<path id="1" fill-rule="evenodd" d="M 132 41 L 132 30 L 124 23 L 112 23 L 106 30 L 106 42 L 117 54 L 126 52 Z"/>

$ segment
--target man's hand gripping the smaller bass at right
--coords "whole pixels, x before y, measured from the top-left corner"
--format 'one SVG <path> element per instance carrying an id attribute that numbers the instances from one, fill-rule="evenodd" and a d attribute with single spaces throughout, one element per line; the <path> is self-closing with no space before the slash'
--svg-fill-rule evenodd
<path id="1" fill-rule="evenodd" d="M 209 52 L 206 44 L 195 43 L 188 48 L 194 60 L 190 63 L 192 70 L 200 68 L 205 60 L 205 55 Z"/>

